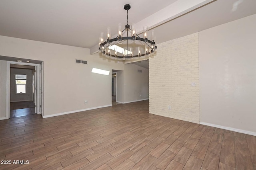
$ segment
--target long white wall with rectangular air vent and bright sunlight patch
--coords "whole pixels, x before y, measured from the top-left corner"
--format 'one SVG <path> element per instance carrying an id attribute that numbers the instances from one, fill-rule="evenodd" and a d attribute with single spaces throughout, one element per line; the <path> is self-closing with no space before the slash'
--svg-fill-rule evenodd
<path id="1" fill-rule="evenodd" d="M 102 59 L 98 53 L 90 55 L 90 49 L 5 36 L 0 36 L 0 55 L 44 61 L 44 116 L 111 105 L 111 71 L 124 69 L 122 62 Z M 88 64 L 76 64 L 75 59 Z M 6 69 L 2 65 L 0 69 Z M 93 67 L 110 74 L 91 73 Z M 2 86 L 0 97 L 1 110 L 5 110 L 6 89 Z M 5 117 L 5 111 L 1 114 Z"/>

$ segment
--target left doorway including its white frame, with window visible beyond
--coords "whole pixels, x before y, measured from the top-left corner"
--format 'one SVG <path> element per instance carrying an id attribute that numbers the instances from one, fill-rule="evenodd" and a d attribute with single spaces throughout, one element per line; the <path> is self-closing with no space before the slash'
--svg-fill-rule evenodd
<path id="1" fill-rule="evenodd" d="M 43 115 L 43 62 L 6 61 L 6 119 Z"/>

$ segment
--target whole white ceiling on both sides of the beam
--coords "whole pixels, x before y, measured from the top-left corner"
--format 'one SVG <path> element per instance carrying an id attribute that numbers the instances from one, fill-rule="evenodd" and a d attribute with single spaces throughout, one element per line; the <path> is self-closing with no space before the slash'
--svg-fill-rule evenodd
<path id="1" fill-rule="evenodd" d="M 91 48 L 100 31 L 138 23 L 178 0 L 0 0 L 0 35 Z M 191 1 L 191 0 L 189 0 Z M 194 0 L 196 1 L 196 0 Z M 256 14 L 256 0 L 216 0 L 154 28 L 157 43 Z M 154 15 L 153 15 L 154 16 Z"/>

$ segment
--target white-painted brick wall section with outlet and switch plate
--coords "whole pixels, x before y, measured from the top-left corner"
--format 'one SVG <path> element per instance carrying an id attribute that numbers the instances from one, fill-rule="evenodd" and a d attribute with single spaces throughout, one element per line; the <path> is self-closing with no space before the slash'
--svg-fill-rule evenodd
<path id="1" fill-rule="evenodd" d="M 157 45 L 149 59 L 150 113 L 199 123 L 198 44 L 194 33 Z"/>

